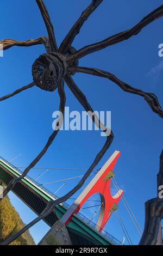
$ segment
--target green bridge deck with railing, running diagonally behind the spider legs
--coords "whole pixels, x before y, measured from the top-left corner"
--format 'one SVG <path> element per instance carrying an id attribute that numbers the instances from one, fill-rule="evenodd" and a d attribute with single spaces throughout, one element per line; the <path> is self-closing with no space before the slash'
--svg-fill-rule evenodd
<path id="1" fill-rule="evenodd" d="M 7 160 L 0 157 L 0 181 L 8 185 L 12 178 L 21 176 L 20 169 L 13 166 Z M 26 175 L 24 179 L 18 182 L 12 192 L 22 200 L 36 215 L 40 215 L 45 209 L 49 200 L 56 200 L 58 197 L 45 187 L 41 186 L 35 180 Z M 62 218 L 70 208 L 66 202 L 58 204 L 52 214 L 43 219 L 49 227 Z M 73 245 L 122 245 L 114 236 L 89 218 L 78 212 L 73 214 L 71 221 L 67 224 L 68 234 Z M 98 231 L 97 231 L 98 230 Z"/>

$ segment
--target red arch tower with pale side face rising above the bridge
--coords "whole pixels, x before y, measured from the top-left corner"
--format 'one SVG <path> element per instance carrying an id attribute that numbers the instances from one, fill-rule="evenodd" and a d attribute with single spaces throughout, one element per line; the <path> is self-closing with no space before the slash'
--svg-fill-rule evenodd
<path id="1" fill-rule="evenodd" d="M 123 195 L 122 190 L 118 190 L 118 192 L 114 196 L 111 196 L 110 192 L 111 178 L 115 175 L 113 169 L 120 154 L 120 151 L 115 151 L 114 154 L 112 154 L 109 160 L 104 164 L 104 166 L 99 170 L 96 176 L 86 186 L 80 196 L 67 210 L 65 215 L 62 216 L 62 223 L 67 225 L 68 222 L 71 220 L 73 214 L 78 213 L 86 200 L 89 199 L 92 194 L 99 193 L 101 196 L 101 210 L 99 213 L 96 229 L 98 231 L 102 231 L 105 224 L 108 222 L 112 212 L 118 208 L 117 204 Z"/>

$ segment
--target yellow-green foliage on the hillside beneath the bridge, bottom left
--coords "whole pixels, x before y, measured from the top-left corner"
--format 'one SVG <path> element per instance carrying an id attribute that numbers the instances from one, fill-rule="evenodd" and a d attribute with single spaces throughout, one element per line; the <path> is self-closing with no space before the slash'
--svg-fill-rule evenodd
<path id="1" fill-rule="evenodd" d="M 9 198 L 3 198 L 0 203 L 0 242 L 15 235 L 23 227 L 24 223 L 15 208 L 11 205 Z M 10 245 L 35 245 L 35 242 L 29 231 L 26 231 L 10 243 Z"/>

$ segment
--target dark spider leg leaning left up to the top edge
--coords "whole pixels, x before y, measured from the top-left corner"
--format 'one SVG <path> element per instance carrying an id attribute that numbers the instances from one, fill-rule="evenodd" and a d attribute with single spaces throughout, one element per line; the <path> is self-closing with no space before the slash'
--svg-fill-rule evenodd
<path id="1" fill-rule="evenodd" d="M 45 3 L 43 3 L 43 0 L 36 0 L 36 3 L 40 9 L 42 18 L 47 28 L 47 32 L 49 36 L 49 44 L 51 45 L 51 51 L 56 52 L 58 47 L 57 47 L 57 42 L 54 35 L 54 28 L 51 22 L 51 18 L 49 17 L 48 11 L 46 9 Z"/>

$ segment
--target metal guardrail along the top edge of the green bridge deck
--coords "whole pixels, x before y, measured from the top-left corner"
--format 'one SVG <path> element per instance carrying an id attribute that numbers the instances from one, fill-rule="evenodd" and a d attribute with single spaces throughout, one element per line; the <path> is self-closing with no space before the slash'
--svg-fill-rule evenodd
<path id="1" fill-rule="evenodd" d="M 20 174 L 23 173 L 20 169 L 18 169 L 13 164 L 11 164 L 7 160 L 5 160 L 2 156 L 0 156 L 0 159 L 2 159 L 4 162 L 8 163 L 12 168 L 16 169 L 17 172 L 19 172 Z M 48 193 L 50 196 L 54 197 L 55 199 L 59 198 L 55 194 L 53 194 L 51 191 L 49 191 L 47 188 L 45 188 L 43 186 L 40 186 L 40 184 L 37 181 L 35 181 L 34 179 L 32 179 L 30 176 L 26 175 L 26 178 L 28 178 L 30 181 L 32 181 L 35 185 L 39 186 L 43 191 Z M 66 202 L 62 202 L 61 205 L 63 205 L 66 209 L 70 208 L 70 205 L 67 204 Z M 113 243 L 114 245 L 122 245 L 122 242 L 120 242 L 118 239 L 116 239 L 114 236 L 109 234 L 107 231 L 105 231 L 104 229 L 99 227 L 96 223 L 92 222 L 89 218 L 87 218 L 86 216 L 84 216 L 80 212 L 78 212 L 78 214 L 76 214 L 76 215 L 80 218 L 80 220 L 84 221 L 86 224 L 90 225 L 91 228 L 93 228 L 96 231 L 98 231 L 109 242 Z"/>

